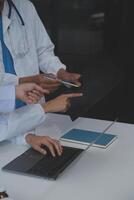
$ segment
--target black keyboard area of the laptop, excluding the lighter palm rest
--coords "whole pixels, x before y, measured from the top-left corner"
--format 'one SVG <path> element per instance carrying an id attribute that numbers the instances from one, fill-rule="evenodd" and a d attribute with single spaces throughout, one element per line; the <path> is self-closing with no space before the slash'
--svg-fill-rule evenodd
<path id="1" fill-rule="evenodd" d="M 38 161 L 27 173 L 49 178 L 57 178 L 83 150 L 71 147 L 63 147 L 61 156 L 52 157 L 50 153 Z"/>

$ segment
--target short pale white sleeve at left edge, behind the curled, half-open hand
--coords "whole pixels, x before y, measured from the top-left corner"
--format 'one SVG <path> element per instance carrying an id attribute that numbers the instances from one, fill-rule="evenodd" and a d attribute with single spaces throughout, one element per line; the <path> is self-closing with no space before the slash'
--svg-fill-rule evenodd
<path id="1" fill-rule="evenodd" d="M 0 113 L 12 112 L 15 108 L 15 86 L 0 86 Z"/>

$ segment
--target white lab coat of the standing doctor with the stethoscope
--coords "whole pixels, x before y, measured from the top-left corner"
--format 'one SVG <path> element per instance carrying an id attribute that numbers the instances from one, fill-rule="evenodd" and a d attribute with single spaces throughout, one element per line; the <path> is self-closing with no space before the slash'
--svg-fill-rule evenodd
<path id="1" fill-rule="evenodd" d="M 54 56 L 54 45 L 32 3 L 28 0 L 13 0 L 13 2 L 25 26 L 22 26 L 14 9 L 11 19 L 7 17 L 9 8 L 5 0 L 2 13 L 4 41 L 13 57 L 17 76 L 5 74 L 0 48 L 1 84 L 17 84 L 18 77 L 36 75 L 39 74 L 39 70 L 56 74 L 59 68 L 65 68 L 59 58 Z"/>

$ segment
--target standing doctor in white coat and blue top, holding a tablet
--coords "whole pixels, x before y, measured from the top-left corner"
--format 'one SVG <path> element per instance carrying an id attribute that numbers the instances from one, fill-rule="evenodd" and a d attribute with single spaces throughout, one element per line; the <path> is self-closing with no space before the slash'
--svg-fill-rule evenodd
<path id="1" fill-rule="evenodd" d="M 48 81 L 39 73 L 41 70 L 80 85 L 80 75 L 67 72 L 66 66 L 54 55 L 54 45 L 29 0 L 0 0 L 0 6 L 2 84 L 36 82 L 50 91 L 55 90 L 59 82 Z M 8 61 L 5 56 L 9 57 Z"/>

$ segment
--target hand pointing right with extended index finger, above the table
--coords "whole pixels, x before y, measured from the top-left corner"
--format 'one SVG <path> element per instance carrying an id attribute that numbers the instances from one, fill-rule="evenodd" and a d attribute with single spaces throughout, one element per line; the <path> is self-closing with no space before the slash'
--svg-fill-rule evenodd
<path id="1" fill-rule="evenodd" d="M 70 107 L 70 98 L 81 97 L 82 93 L 63 94 L 53 100 L 42 104 L 44 111 L 47 112 L 66 112 Z"/>

